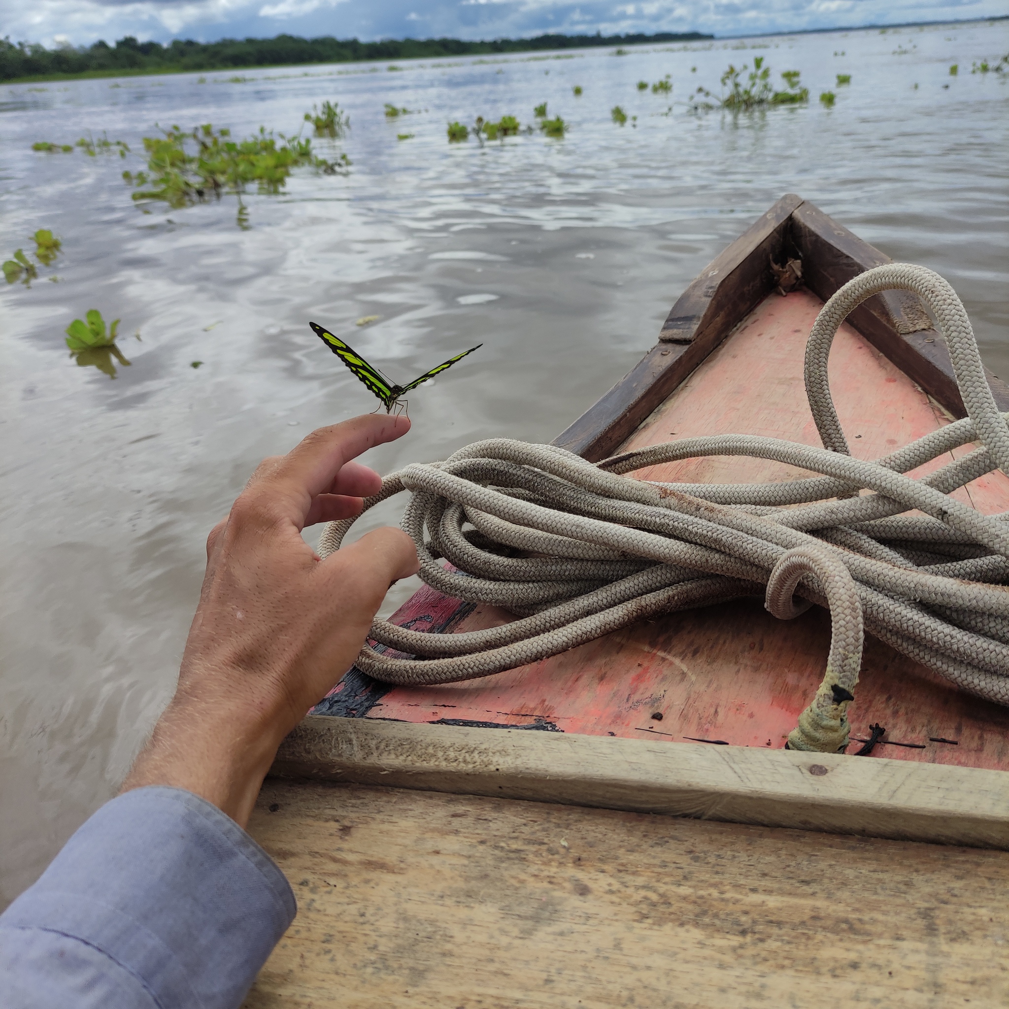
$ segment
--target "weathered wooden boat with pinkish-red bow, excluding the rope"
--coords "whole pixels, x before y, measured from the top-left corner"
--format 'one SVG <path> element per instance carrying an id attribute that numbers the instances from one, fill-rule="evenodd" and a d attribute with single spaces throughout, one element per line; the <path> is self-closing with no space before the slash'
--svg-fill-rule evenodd
<path id="1" fill-rule="evenodd" d="M 772 263 L 790 259 L 801 285 L 783 294 Z M 886 261 L 783 197 L 556 443 L 590 460 L 700 434 L 819 445 L 805 339 L 838 287 Z M 854 312 L 829 373 L 862 458 L 964 416 L 910 295 Z M 803 474 L 704 458 L 638 475 Z M 1009 479 L 957 495 L 1007 511 Z M 424 588 L 393 619 L 451 633 L 511 618 Z M 781 622 L 741 600 L 471 682 L 388 687 L 351 669 L 282 747 L 253 816 L 303 911 L 247 1005 L 812 1005 L 826 976 L 844 1004 L 1006 1004 L 1009 914 L 991 893 L 1009 883 L 1009 708 L 868 639 L 850 716 L 855 739 L 879 724 L 882 741 L 858 759 L 784 751 L 828 642 L 821 609 Z M 949 890 L 968 878 L 989 889 Z M 876 951 L 839 950 L 838 920 Z"/>

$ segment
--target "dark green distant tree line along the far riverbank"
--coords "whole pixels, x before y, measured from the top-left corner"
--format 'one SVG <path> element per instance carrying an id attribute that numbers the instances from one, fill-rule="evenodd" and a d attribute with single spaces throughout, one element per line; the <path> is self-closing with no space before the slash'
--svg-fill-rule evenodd
<path id="1" fill-rule="evenodd" d="M 0 40 L 0 80 L 63 74 L 115 75 L 172 71 L 226 70 L 244 67 L 351 63 L 361 60 L 410 60 L 493 52 L 530 52 L 538 49 L 574 49 L 640 42 L 685 42 L 711 38 L 698 31 L 659 32 L 654 35 L 538 35 L 536 38 L 497 38 L 466 42 L 458 38 L 404 38 L 361 42 L 356 38 L 222 38 L 195 42 L 177 38 L 167 45 L 138 42 L 132 35 L 115 45 L 99 40 L 93 45 L 63 45 L 47 49 L 39 43 Z"/>

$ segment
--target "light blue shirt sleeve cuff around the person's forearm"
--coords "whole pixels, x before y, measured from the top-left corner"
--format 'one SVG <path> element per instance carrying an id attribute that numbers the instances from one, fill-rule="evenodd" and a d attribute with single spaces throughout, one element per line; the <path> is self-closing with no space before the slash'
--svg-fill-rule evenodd
<path id="1" fill-rule="evenodd" d="M 178 788 L 98 810 L 0 915 L 5 1009 L 235 1009 L 295 895 L 229 816 Z"/>

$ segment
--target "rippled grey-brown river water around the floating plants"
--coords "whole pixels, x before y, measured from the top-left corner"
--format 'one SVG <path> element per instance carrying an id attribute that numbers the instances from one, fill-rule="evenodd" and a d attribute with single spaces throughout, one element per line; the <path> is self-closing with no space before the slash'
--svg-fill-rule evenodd
<path id="1" fill-rule="evenodd" d="M 30 287 L 0 282 L 0 906 L 114 793 L 170 697 L 206 534 L 255 464 L 373 408 L 309 319 L 401 381 L 483 344 L 411 396 L 411 435 L 367 460 L 379 471 L 478 438 L 548 441 L 795 192 L 944 274 L 1009 375 L 1009 73 L 971 73 L 1007 51 L 1002 21 L 0 88 L 0 253 L 29 250 L 38 228 L 63 240 Z M 731 62 L 758 55 L 775 79 L 801 71 L 808 106 L 689 111 L 698 86 L 717 92 Z M 666 75 L 671 95 L 636 88 Z M 247 196 L 247 228 L 234 197 L 138 207 L 120 179 L 155 123 L 293 132 L 324 99 L 351 128 L 316 143 L 345 151 L 350 175 Z M 543 101 L 564 139 L 447 142 L 450 120 L 528 123 Z M 385 102 L 412 111 L 388 120 Z M 618 104 L 637 119 L 615 124 Z M 30 149 L 103 131 L 132 153 Z M 121 319 L 131 363 L 114 379 L 64 344 L 92 308 Z M 396 520 L 390 507 L 361 525 Z"/>

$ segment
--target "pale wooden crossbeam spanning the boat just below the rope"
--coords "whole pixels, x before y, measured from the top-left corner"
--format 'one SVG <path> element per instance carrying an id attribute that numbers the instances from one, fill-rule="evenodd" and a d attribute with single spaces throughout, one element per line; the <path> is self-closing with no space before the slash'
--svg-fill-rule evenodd
<path id="1" fill-rule="evenodd" d="M 270 774 L 1009 850 L 1009 775 L 885 758 L 310 715 Z"/>

